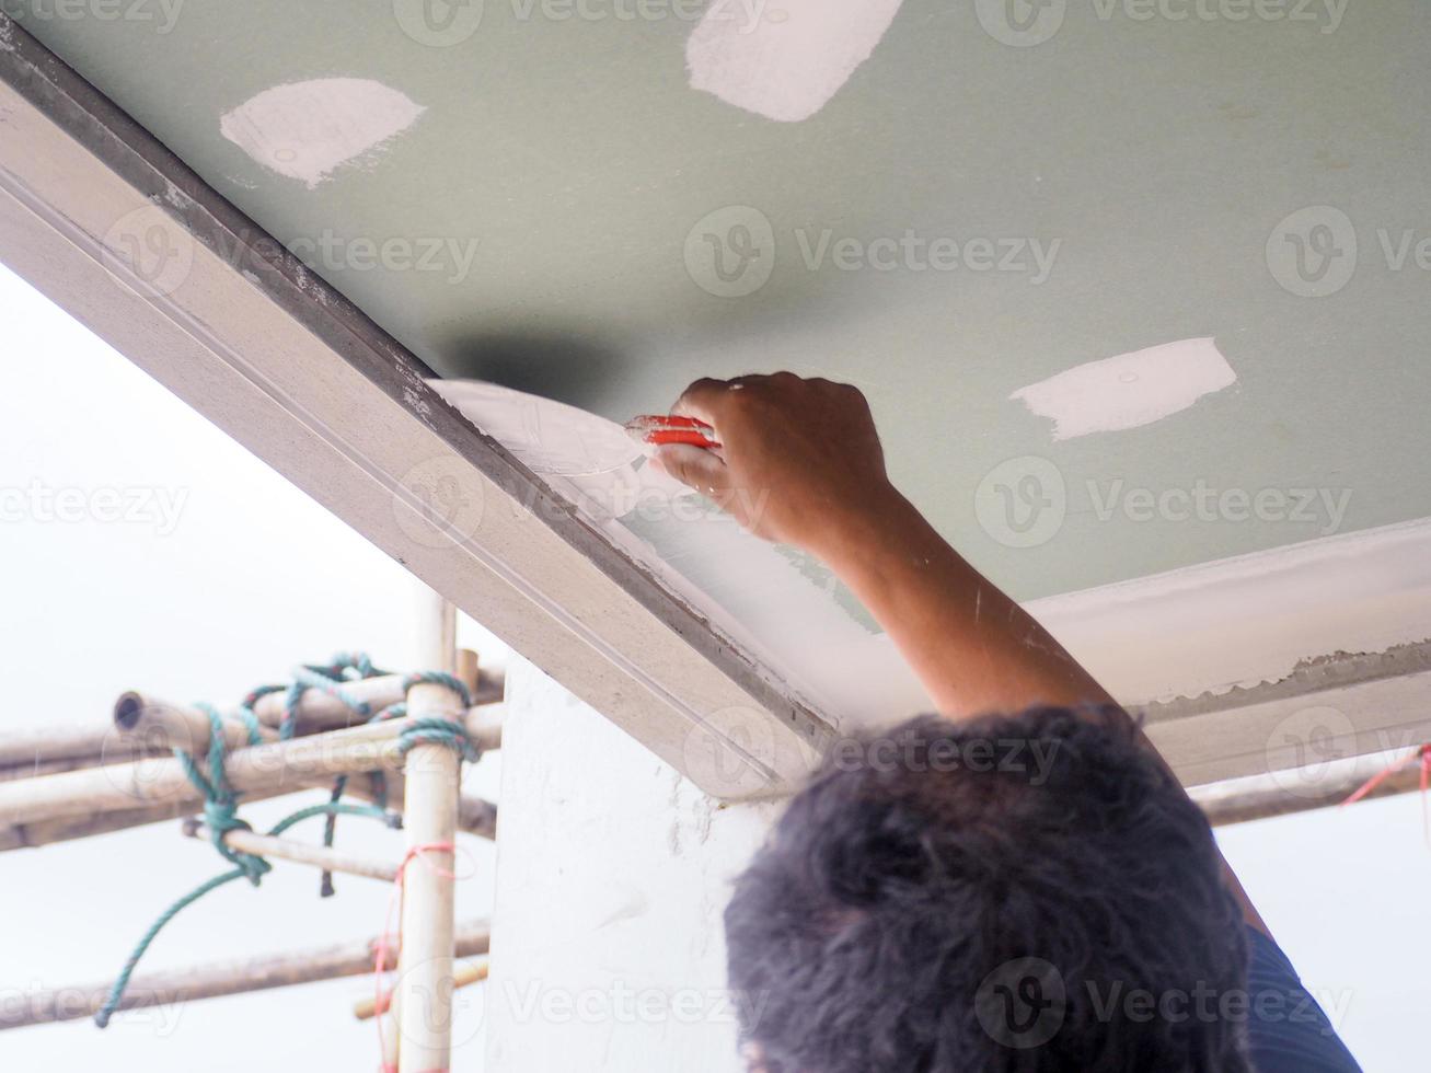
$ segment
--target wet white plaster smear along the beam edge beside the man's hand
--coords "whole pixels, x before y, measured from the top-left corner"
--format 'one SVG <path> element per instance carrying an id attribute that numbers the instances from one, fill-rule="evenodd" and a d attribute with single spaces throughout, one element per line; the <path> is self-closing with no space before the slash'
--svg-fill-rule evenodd
<path id="1" fill-rule="evenodd" d="M 841 730 L 930 710 L 894 642 L 829 569 L 648 466 L 620 425 L 492 383 L 429 383 Z"/>

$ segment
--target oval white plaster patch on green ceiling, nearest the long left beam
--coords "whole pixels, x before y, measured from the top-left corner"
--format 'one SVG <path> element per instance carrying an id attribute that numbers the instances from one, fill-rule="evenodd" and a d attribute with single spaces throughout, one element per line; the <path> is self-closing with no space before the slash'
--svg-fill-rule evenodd
<path id="1" fill-rule="evenodd" d="M 313 79 L 250 97 L 219 119 L 219 132 L 265 167 L 313 189 L 378 152 L 425 110 L 372 79 Z"/>

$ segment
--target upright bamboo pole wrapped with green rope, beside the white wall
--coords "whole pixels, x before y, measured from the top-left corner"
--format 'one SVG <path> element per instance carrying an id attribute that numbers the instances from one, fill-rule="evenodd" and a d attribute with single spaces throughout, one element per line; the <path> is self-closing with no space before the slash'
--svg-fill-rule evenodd
<path id="1" fill-rule="evenodd" d="M 424 657 L 435 670 L 456 670 L 456 608 L 431 594 L 434 635 Z M 461 701 L 445 685 L 408 691 L 412 718 L 461 720 Z M 402 891 L 402 956 L 398 959 L 398 1070 L 446 1070 L 452 1053 L 454 860 L 461 757 L 441 744 L 408 751 L 404 825 L 408 857 Z"/>

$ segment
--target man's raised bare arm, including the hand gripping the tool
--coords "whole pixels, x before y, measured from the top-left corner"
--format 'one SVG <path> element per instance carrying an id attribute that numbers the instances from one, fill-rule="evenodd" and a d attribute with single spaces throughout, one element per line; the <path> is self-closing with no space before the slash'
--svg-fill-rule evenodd
<path id="1" fill-rule="evenodd" d="M 884 627 L 940 714 L 1115 704 L 890 484 L 857 389 L 791 373 L 697 381 L 673 412 L 713 425 L 721 449 L 661 448 L 660 465 L 751 532 L 820 557 Z M 1248 923 L 1265 931 L 1226 876 Z"/>

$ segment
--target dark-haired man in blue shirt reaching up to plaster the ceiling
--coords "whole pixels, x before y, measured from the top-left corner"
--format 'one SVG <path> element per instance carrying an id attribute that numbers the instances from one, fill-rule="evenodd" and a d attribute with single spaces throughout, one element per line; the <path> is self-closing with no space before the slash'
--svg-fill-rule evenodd
<path id="1" fill-rule="evenodd" d="M 726 910 L 753 1073 L 1344 1073 L 1206 818 L 1128 715 L 892 485 L 863 395 L 704 379 L 654 462 L 817 555 L 939 715 L 841 741 Z"/>

